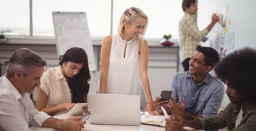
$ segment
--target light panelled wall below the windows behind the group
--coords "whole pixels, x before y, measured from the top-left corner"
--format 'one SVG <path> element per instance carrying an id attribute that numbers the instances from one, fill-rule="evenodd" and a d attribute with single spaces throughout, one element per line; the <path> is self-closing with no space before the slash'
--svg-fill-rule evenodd
<path id="1" fill-rule="evenodd" d="M 11 41 L 11 40 L 9 40 Z M 94 45 L 100 45 L 102 40 L 92 41 Z M 171 79 L 177 72 L 177 65 L 180 67 L 179 71 L 182 71 L 183 68 L 180 66 L 178 59 L 178 48 L 177 47 L 162 47 L 159 44 L 159 41 L 149 41 L 149 67 L 148 67 L 148 76 L 149 83 L 151 86 L 151 93 L 153 99 L 156 96 L 159 96 L 161 90 L 170 90 L 171 89 Z M 23 44 L 28 43 L 29 44 Z M 45 42 L 43 40 L 43 42 Z M 38 43 L 28 41 L 12 40 L 12 43 L 0 43 L 0 62 L 1 62 L 1 71 L 2 74 L 5 74 L 7 64 L 4 62 L 9 60 L 12 53 L 21 47 L 27 47 L 35 52 L 38 52 L 44 59 L 47 59 L 48 65 L 45 67 L 58 66 L 58 57 L 57 50 L 54 45 L 54 40 L 51 40 L 48 44 Z M 98 42 L 98 43 L 96 43 Z M 97 64 L 97 57 L 100 55 L 99 46 L 94 46 L 95 53 L 95 62 Z M 177 64 L 178 63 L 178 64 Z M 97 90 L 97 81 L 99 80 L 100 71 L 90 72 L 91 80 L 90 84 L 90 93 L 95 93 Z M 36 91 L 33 92 L 33 100 L 36 100 Z"/>

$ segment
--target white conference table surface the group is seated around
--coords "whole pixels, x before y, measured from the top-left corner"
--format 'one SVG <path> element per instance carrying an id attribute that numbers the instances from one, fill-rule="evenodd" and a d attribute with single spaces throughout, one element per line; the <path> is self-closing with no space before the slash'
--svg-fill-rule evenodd
<path id="1" fill-rule="evenodd" d="M 67 114 L 56 115 L 53 118 L 65 119 L 68 118 Z M 187 130 L 193 131 L 203 131 L 203 130 L 194 130 L 191 127 L 184 127 Z M 55 130 L 52 128 L 46 127 L 31 127 L 33 131 L 47 131 L 47 130 Z M 88 121 L 85 124 L 84 131 L 164 131 L 164 127 L 158 127 L 153 125 L 143 125 L 140 124 L 138 126 L 127 126 L 127 125 L 98 125 L 98 124 L 90 124 Z"/>

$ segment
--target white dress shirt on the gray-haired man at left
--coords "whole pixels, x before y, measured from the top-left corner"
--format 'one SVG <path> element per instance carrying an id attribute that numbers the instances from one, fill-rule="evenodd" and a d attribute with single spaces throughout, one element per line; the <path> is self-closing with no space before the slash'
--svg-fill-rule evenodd
<path id="1" fill-rule="evenodd" d="M 0 131 L 27 131 L 29 125 L 41 126 L 50 118 L 36 110 L 28 93 L 21 93 L 6 76 L 0 78 Z"/>

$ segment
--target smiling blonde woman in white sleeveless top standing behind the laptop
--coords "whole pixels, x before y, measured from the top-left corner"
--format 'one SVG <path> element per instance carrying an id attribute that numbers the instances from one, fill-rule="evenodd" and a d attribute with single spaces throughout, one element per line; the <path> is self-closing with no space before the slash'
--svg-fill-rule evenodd
<path id="1" fill-rule="evenodd" d="M 140 95 L 140 79 L 146 92 L 144 111 L 153 114 L 153 100 L 147 76 L 148 50 L 142 38 L 148 17 L 139 8 L 127 8 L 119 20 L 118 34 L 102 42 L 100 93 Z M 140 79 L 139 79 L 140 76 Z"/>

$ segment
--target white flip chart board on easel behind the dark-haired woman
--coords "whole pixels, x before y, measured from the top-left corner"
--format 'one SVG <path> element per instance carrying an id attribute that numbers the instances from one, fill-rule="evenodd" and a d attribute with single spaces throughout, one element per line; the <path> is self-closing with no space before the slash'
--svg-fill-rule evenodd
<path id="1" fill-rule="evenodd" d="M 58 57 L 71 47 L 81 47 L 87 53 L 90 71 L 95 71 L 95 57 L 86 13 L 53 11 L 53 25 Z"/>

